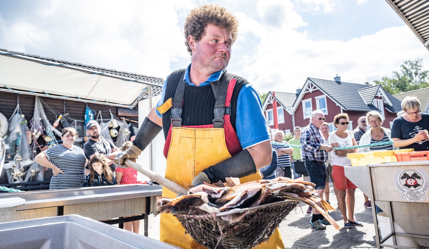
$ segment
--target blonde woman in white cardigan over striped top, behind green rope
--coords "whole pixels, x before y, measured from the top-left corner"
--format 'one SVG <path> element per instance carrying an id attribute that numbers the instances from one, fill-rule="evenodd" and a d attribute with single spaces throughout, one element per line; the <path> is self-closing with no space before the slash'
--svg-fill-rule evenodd
<path id="1" fill-rule="evenodd" d="M 377 142 L 388 142 L 392 141 L 390 136 L 390 130 L 382 127 L 383 117 L 377 111 L 370 111 L 366 114 L 366 120 L 371 128 L 362 135 L 359 145 L 368 145 Z M 358 152 L 369 152 L 369 151 L 380 151 L 380 150 L 395 150 L 393 144 L 389 145 L 378 145 L 372 147 L 359 148 Z"/>

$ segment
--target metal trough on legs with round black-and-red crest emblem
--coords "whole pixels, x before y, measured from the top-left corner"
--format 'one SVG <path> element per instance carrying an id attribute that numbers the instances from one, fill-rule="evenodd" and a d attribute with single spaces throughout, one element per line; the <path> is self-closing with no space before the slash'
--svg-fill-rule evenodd
<path id="1" fill-rule="evenodd" d="M 369 164 L 368 166 L 344 167 L 347 178 L 371 198 L 390 217 L 392 233 L 381 239 L 376 232 L 377 247 L 415 248 L 401 245 L 404 238 L 411 237 L 420 246 L 429 247 L 429 161 Z M 372 209 L 375 230 L 378 221 Z M 405 232 L 395 231 L 393 224 Z M 393 245 L 384 243 L 390 237 Z"/>

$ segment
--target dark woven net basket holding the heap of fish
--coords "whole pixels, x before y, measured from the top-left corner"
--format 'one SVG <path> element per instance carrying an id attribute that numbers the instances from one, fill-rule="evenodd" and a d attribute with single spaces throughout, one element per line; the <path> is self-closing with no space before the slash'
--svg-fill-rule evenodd
<path id="1" fill-rule="evenodd" d="M 299 202 L 281 201 L 221 213 L 175 215 L 187 233 L 208 249 L 250 249 L 266 241 Z M 230 222 L 243 216 L 238 222 Z"/>

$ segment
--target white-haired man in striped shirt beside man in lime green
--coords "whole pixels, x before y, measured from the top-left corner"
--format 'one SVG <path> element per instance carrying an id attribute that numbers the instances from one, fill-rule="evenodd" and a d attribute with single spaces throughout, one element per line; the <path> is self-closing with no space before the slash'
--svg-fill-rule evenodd
<path id="1" fill-rule="evenodd" d="M 275 169 L 276 176 L 284 176 L 292 179 L 292 171 L 290 170 L 290 154 L 293 153 L 293 148 L 289 147 L 287 141 L 283 141 L 284 132 L 282 130 L 276 130 L 274 132 L 275 142 L 284 143 L 284 145 L 272 145 L 272 148 L 277 152 L 278 165 Z"/>

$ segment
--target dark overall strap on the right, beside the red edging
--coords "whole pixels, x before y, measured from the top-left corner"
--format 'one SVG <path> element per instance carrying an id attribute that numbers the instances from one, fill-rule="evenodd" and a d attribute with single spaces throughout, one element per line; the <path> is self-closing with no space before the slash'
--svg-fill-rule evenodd
<path id="1" fill-rule="evenodd" d="M 211 89 L 215 95 L 215 119 L 213 119 L 213 128 L 224 127 L 224 114 L 225 114 L 225 99 L 227 98 L 228 86 L 233 74 L 226 72 L 221 80 L 211 83 Z"/>

